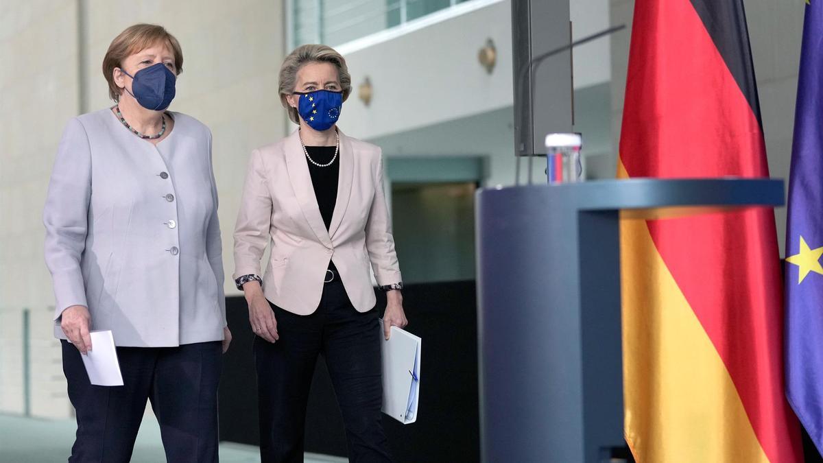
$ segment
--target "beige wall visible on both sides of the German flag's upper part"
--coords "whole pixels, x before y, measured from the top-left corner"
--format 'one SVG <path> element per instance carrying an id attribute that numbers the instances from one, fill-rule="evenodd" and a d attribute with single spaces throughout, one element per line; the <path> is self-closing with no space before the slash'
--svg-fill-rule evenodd
<path id="1" fill-rule="evenodd" d="M 792 155 L 794 103 L 805 2 L 744 0 L 751 52 L 755 63 L 760 112 L 763 118 L 770 174 L 788 181 Z M 631 26 L 635 2 L 611 0 L 611 24 Z M 620 138 L 625 72 L 628 64 L 630 28 L 611 39 L 611 109 L 614 146 Z M 787 185 L 788 186 L 788 185 Z M 786 208 L 775 210 L 778 242 L 783 254 Z"/>

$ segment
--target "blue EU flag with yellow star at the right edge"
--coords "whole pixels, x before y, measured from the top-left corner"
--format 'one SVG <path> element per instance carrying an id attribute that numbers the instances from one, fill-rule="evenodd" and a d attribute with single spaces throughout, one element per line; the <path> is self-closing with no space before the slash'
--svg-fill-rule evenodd
<path id="1" fill-rule="evenodd" d="M 823 4 L 803 21 L 786 230 L 786 395 L 823 451 Z"/>

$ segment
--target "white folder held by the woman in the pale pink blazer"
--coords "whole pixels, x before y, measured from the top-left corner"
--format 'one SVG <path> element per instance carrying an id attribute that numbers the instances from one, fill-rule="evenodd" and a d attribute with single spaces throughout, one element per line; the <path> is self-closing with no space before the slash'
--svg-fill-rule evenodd
<path id="1" fill-rule="evenodd" d="M 420 397 L 421 339 L 408 331 L 392 326 L 391 338 L 383 334 L 383 413 L 400 423 L 414 423 Z"/>

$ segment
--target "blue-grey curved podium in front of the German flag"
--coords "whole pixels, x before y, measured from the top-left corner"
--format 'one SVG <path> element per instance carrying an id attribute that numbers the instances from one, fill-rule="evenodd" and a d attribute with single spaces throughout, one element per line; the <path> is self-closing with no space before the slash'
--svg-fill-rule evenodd
<path id="1" fill-rule="evenodd" d="M 600 180 L 477 193 L 483 461 L 624 447 L 619 213 L 783 205 L 783 180 Z"/>

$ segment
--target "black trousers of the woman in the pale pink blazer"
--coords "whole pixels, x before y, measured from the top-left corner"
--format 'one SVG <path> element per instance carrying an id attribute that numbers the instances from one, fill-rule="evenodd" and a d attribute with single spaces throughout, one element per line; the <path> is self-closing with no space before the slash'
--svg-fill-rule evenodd
<path id="1" fill-rule="evenodd" d="M 303 461 L 306 404 L 319 353 L 340 404 L 350 461 L 391 461 L 380 414 L 377 311 L 356 311 L 339 279 L 324 286 L 318 310 L 309 316 L 273 304 L 272 310 L 280 339 L 254 339 L 263 463 Z"/>

